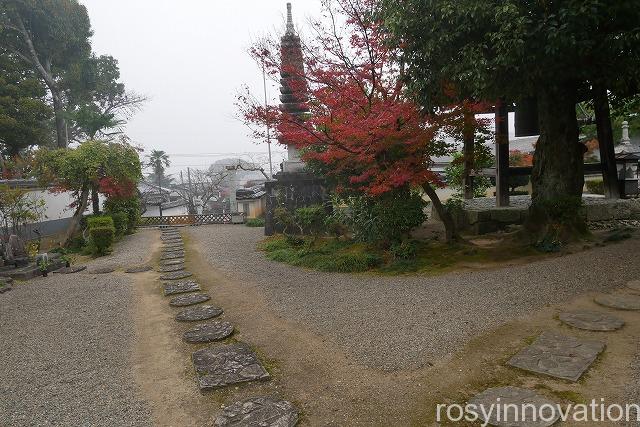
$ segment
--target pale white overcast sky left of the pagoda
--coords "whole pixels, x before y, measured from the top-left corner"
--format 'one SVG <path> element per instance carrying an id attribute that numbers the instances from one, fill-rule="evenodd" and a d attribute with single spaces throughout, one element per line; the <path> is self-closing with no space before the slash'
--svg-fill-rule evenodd
<path id="1" fill-rule="evenodd" d="M 304 31 L 320 0 L 290 1 Z M 252 140 L 237 120 L 234 102 L 245 84 L 262 98 L 262 73 L 247 49 L 284 30 L 287 0 L 80 2 L 89 11 L 94 51 L 115 57 L 126 87 L 150 97 L 127 129 L 135 144 L 172 155 L 174 173 L 229 157 L 223 153 L 266 153 L 266 143 Z M 275 98 L 277 88 L 267 84 Z"/>

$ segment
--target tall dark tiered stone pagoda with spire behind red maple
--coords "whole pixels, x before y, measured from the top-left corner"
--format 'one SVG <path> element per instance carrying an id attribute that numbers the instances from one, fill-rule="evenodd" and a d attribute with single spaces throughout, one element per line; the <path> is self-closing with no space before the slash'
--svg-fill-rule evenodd
<path id="1" fill-rule="evenodd" d="M 291 14 L 291 3 L 287 3 L 287 27 L 280 39 L 282 63 L 280 65 L 280 110 L 294 115 L 298 120 L 304 120 L 309 112 L 307 102 L 309 94 L 307 81 L 304 77 L 304 62 L 300 37 L 296 34 Z M 280 139 L 281 144 L 287 146 L 287 160 L 282 164 L 282 171 L 299 172 L 304 167 L 300 160 L 298 149 Z"/>

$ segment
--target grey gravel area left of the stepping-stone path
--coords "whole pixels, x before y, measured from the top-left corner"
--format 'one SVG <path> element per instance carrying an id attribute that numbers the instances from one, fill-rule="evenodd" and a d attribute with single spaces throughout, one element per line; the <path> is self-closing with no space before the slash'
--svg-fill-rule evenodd
<path id="1" fill-rule="evenodd" d="M 152 237 L 129 236 L 108 258 L 146 261 Z M 132 379 L 132 310 L 124 273 L 50 274 L 0 295 L 0 426 L 152 425 Z"/>

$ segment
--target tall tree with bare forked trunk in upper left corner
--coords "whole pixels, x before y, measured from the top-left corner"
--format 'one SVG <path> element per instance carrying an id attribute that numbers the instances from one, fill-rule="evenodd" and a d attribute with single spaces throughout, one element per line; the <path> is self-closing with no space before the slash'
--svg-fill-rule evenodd
<path id="1" fill-rule="evenodd" d="M 0 48 L 28 63 L 47 85 L 55 113 L 57 145 L 68 145 L 61 79 L 91 52 L 91 24 L 77 0 L 4 0 Z"/>

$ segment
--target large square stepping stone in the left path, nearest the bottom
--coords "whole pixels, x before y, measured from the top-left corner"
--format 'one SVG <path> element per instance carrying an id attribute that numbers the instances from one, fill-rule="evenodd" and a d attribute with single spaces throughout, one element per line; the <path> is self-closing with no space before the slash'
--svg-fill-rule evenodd
<path id="1" fill-rule="evenodd" d="M 246 344 L 216 345 L 191 355 L 201 390 L 264 380 L 269 373 Z"/>

